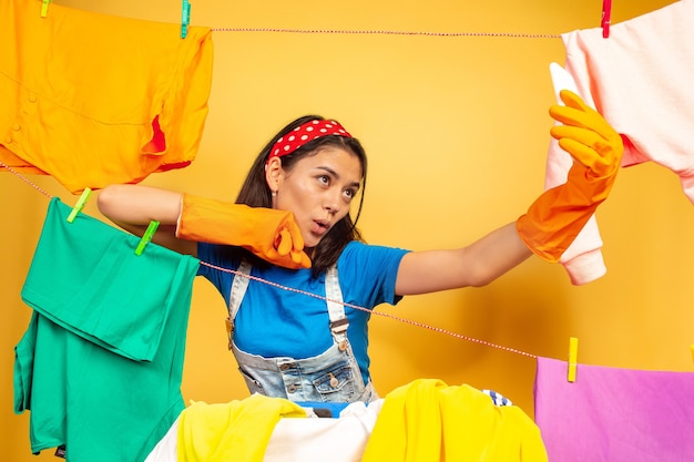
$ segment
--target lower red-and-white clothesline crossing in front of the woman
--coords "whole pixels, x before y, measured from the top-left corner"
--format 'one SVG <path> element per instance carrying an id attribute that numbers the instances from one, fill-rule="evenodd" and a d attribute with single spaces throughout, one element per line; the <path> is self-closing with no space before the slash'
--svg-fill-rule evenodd
<path id="1" fill-rule="evenodd" d="M 37 189 L 39 193 L 43 194 L 44 196 L 47 196 L 49 198 L 53 197 L 50 193 L 48 193 L 47 191 L 42 189 L 39 185 L 34 184 L 29 178 L 24 177 L 21 173 L 17 172 L 14 168 L 10 167 L 9 165 L 3 163 L 2 161 L 0 161 L 0 167 L 7 168 L 8 172 L 14 174 L 21 181 L 23 181 L 24 183 L 27 183 L 28 185 L 30 185 L 31 187 Z M 370 310 L 368 308 L 360 307 L 358 305 L 353 305 L 353 304 L 348 304 L 348 302 L 340 301 L 340 300 L 331 300 L 331 299 L 328 299 L 327 297 L 324 297 L 324 296 L 320 296 L 320 295 L 317 295 L 317 294 L 308 292 L 308 291 L 305 291 L 305 290 L 299 290 L 299 289 L 296 289 L 296 288 L 293 288 L 293 287 L 288 287 L 288 286 L 283 286 L 280 284 L 276 284 L 276 283 L 273 283 L 271 280 L 263 279 L 263 278 L 259 278 L 259 277 L 256 277 L 256 276 L 244 275 L 244 274 L 242 274 L 239 271 L 236 271 L 236 270 L 233 270 L 233 269 L 229 269 L 229 268 L 224 268 L 224 267 L 221 267 L 221 266 L 216 266 L 216 265 L 210 264 L 207 261 L 201 260 L 201 265 L 205 265 L 205 266 L 207 266 L 210 268 L 213 268 L 213 269 L 216 269 L 218 271 L 232 273 L 232 274 L 237 275 L 237 276 L 241 275 L 241 276 L 247 277 L 248 279 L 256 280 L 256 281 L 259 281 L 259 283 L 263 283 L 263 284 L 267 284 L 268 286 L 276 287 L 276 288 L 282 289 L 282 290 L 293 291 L 293 292 L 296 292 L 296 294 L 302 294 L 302 295 L 305 295 L 305 296 L 319 298 L 319 299 L 326 300 L 326 301 L 333 301 L 333 302 L 340 304 L 340 305 L 344 305 L 344 306 L 353 308 L 353 309 L 358 309 L 358 310 L 361 310 L 361 311 L 370 312 L 372 315 L 382 316 L 382 317 L 386 317 L 386 318 L 389 318 L 389 319 L 392 319 L 392 320 L 396 320 L 396 321 L 400 321 L 400 322 L 404 322 L 404 324 L 408 324 L 408 325 L 411 325 L 411 326 L 415 326 L 415 327 L 420 327 L 420 328 L 423 328 L 423 329 L 432 330 L 432 331 L 438 332 L 438 333 L 443 333 L 443 335 L 447 335 L 447 336 L 450 336 L 450 337 L 455 337 L 455 338 L 460 339 L 460 340 L 466 340 L 466 341 L 469 341 L 469 342 L 472 342 L 472 343 L 478 343 L 478 345 L 482 345 L 482 346 L 486 346 L 486 347 L 496 348 L 496 349 L 503 350 L 503 351 L 507 351 L 507 352 L 524 356 L 527 358 L 532 358 L 532 359 L 537 359 L 538 358 L 537 355 L 532 355 L 532 353 L 529 353 L 529 352 L 525 352 L 525 351 L 522 351 L 522 350 L 519 350 L 519 349 L 516 349 L 516 348 L 504 347 L 502 345 L 497 345 L 497 343 L 492 343 L 492 342 L 489 342 L 489 341 L 486 341 L 486 340 L 476 339 L 473 337 L 468 337 L 468 336 L 465 336 L 462 333 L 457 333 L 457 332 L 453 332 L 453 331 L 448 330 L 448 329 L 443 329 L 443 328 L 435 327 L 435 326 L 429 326 L 429 325 L 423 324 L 423 322 L 415 321 L 412 319 L 401 318 L 401 317 L 398 317 L 398 316 L 395 316 L 395 315 L 390 315 L 388 312 Z"/>

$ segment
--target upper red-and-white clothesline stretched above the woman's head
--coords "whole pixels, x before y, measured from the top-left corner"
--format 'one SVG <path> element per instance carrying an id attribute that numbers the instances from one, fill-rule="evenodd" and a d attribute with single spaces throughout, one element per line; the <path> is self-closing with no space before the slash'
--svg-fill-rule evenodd
<path id="1" fill-rule="evenodd" d="M 355 35 L 426 35 L 426 37 L 493 37 L 512 39 L 561 39 L 560 34 L 522 32 L 430 32 L 391 30 L 339 30 L 339 29 L 285 29 L 285 28 L 212 28 L 213 32 L 276 32 L 306 34 L 355 34 Z"/>

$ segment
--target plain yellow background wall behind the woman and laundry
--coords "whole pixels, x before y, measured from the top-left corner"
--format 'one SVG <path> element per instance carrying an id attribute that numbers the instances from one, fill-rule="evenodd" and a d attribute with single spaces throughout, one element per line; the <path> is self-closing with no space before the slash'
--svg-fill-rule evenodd
<path id="1" fill-rule="evenodd" d="M 178 22 L 181 14 L 181 2 L 171 0 L 57 3 L 166 22 Z M 672 1 L 614 3 L 616 23 Z M 192 23 L 558 35 L 598 27 L 601 4 L 194 0 Z M 233 199 L 268 137 L 298 115 L 319 113 L 341 121 L 370 155 L 360 219 L 369 243 L 460 246 L 516 219 L 542 192 L 553 103 L 548 64 L 564 58 L 557 37 L 215 31 L 213 38 L 211 112 L 198 157 L 188 168 L 153 175 L 145 184 Z M 76 201 L 50 177 L 29 179 L 68 204 Z M 12 413 L 12 367 L 13 347 L 30 317 L 19 294 L 48 199 L 2 173 L 0 204 L 0 448 L 4 460 L 35 461 L 29 453 L 29 415 Z M 85 213 L 101 217 L 94 205 L 92 198 Z M 575 336 L 580 362 L 692 370 L 694 209 L 678 179 L 653 164 L 623 170 L 599 223 L 609 273 L 595 283 L 571 286 L 561 266 L 532 258 L 488 287 L 409 297 L 380 311 L 532 355 L 564 359 L 569 337 Z M 196 280 L 186 399 L 247 396 L 226 351 L 224 317 L 221 296 Z M 371 355 L 381 394 L 416 378 L 439 378 L 494 389 L 532 414 L 530 358 L 380 316 L 371 322 Z M 53 460 L 52 451 L 39 459 Z"/>

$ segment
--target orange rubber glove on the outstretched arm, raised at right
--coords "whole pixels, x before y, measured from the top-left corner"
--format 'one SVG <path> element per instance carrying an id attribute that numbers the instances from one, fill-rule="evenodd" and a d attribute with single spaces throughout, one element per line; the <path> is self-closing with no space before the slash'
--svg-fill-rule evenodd
<path id="1" fill-rule="evenodd" d="M 535 255 L 557 261 L 608 197 L 620 170 L 624 145 L 620 134 L 575 93 L 560 92 L 563 105 L 550 115 L 563 125 L 552 137 L 573 157 L 567 183 L 545 191 L 516 223 Z"/>

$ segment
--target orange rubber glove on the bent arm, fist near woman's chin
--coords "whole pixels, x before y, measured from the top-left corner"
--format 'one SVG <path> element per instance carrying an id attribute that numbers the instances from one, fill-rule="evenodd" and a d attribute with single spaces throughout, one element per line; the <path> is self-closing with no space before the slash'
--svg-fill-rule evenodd
<path id="1" fill-rule="evenodd" d="M 287 211 L 184 194 L 176 237 L 243 247 L 285 268 L 310 268 L 302 232 Z"/>

